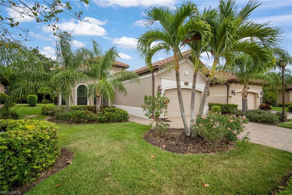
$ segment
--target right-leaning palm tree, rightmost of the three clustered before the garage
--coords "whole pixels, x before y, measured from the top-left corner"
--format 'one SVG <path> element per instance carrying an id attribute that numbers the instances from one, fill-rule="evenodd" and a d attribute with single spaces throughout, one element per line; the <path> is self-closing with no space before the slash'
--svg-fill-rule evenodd
<path id="1" fill-rule="evenodd" d="M 258 1 L 249 1 L 238 11 L 235 1 L 220 1 L 217 14 L 204 18 L 212 29 L 209 46 L 213 65 L 205 84 L 199 114 L 203 114 L 210 82 L 220 58 L 225 60 L 226 65 L 230 65 L 232 58 L 243 52 L 252 58 L 257 70 L 266 68 L 265 64 L 272 66 L 274 58 L 265 47 L 277 45 L 281 30 L 269 27 L 269 23 L 258 24 L 248 20 L 251 12 L 259 5 Z"/>

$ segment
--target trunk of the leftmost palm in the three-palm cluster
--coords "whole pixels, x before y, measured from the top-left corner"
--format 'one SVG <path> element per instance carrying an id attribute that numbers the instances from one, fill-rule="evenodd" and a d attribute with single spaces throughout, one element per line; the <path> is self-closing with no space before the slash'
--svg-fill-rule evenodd
<path id="1" fill-rule="evenodd" d="M 178 64 L 178 54 L 176 52 L 174 53 L 174 60 L 175 60 L 175 78 L 176 78 L 176 87 L 178 90 L 178 103 L 180 105 L 180 114 L 182 115 L 182 118 L 183 118 L 183 125 L 185 127 L 185 135 L 187 137 L 190 137 L 191 131 L 187 124 L 187 118 L 185 116 L 185 108 L 183 106 L 183 94 L 182 94 L 182 89 L 180 86 L 180 71 L 179 71 L 180 68 Z"/>

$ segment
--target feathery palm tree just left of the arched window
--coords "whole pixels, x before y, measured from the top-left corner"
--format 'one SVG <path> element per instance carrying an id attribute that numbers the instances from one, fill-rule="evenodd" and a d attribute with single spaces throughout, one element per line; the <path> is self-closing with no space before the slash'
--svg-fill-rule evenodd
<path id="1" fill-rule="evenodd" d="M 65 98 L 66 111 L 69 111 L 69 100 L 72 99 L 72 88 L 75 82 L 89 77 L 81 71 L 84 69 L 86 56 L 79 51 L 72 51 L 72 38 L 70 35 L 61 34 L 56 41 L 56 57 L 59 66 L 52 73 L 51 83 L 57 92 Z"/>

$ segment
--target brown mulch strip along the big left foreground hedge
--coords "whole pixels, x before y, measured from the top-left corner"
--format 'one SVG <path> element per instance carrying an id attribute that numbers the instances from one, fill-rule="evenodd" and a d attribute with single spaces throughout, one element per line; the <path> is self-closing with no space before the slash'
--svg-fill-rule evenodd
<path id="1" fill-rule="evenodd" d="M 73 160 L 74 154 L 69 151 L 68 149 L 61 148 L 61 153 L 56 159 L 55 164 L 49 169 L 41 173 L 41 175 L 31 183 L 26 183 L 23 185 L 20 185 L 14 189 L 14 191 L 19 192 L 19 194 L 24 194 L 31 190 L 35 185 L 41 183 L 44 179 L 50 177 L 51 175 L 55 174 L 56 172 L 62 170 L 63 168 L 69 166 L 68 161 Z"/>

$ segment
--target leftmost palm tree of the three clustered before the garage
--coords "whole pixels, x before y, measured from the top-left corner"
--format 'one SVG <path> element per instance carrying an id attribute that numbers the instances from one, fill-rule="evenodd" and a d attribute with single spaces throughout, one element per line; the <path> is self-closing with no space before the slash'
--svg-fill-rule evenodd
<path id="1" fill-rule="evenodd" d="M 140 56 L 145 58 L 145 63 L 150 70 L 153 70 L 151 60 L 154 54 L 160 50 L 164 50 L 166 54 L 173 54 L 180 113 L 187 136 L 190 136 L 191 132 L 185 116 L 180 86 L 180 67 L 178 63 L 178 59 L 181 56 L 180 49 L 191 41 L 208 41 L 211 30 L 206 22 L 192 19 L 196 15 L 196 5 L 188 1 L 175 10 L 164 6 L 149 8 L 145 11 L 145 19 L 148 22 L 146 24 L 147 27 L 151 27 L 154 23 L 159 23 L 160 27 L 142 34 L 138 39 L 137 47 Z M 151 47 L 152 43 L 156 43 L 155 46 Z"/>

